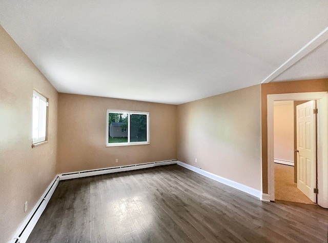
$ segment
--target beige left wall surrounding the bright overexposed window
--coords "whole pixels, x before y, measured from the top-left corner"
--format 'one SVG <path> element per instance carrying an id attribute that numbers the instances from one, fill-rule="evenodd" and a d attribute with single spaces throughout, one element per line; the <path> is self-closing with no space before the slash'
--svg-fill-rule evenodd
<path id="1" fill-rule="evenodd" d="M 49 143 L 32 149 L 33 89 L 49 98 Z M 0 242 L 11 239 L 55 176 L 57 96 L 0 26 Z"/>

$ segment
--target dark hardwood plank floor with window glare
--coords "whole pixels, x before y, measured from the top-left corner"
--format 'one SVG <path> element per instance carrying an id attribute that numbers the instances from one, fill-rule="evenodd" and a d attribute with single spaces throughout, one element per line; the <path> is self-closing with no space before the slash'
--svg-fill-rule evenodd
<path id="1" fill-rule="evenodd" d="M 172 165 L 60 181 L 28 242 L 327 242 L 327 220 Z"/>

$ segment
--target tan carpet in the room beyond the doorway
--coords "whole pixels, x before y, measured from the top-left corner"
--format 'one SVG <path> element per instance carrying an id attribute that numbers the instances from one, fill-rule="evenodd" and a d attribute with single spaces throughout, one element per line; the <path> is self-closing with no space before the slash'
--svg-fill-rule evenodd
<path id="1" fill-rule="evenodd" d="M 275 164 L 275 199 L 314 204 L 294 183 L 294 167 Z"/>

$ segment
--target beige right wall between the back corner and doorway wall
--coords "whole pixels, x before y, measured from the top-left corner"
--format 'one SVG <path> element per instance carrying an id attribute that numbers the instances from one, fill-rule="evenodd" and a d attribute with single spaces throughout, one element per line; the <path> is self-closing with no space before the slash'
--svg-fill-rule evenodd
<path id="1" fill-rule="evenodd" d="M 261 190 L 260 92 L 257 85 L 179 105 L 178 160 Z"/>

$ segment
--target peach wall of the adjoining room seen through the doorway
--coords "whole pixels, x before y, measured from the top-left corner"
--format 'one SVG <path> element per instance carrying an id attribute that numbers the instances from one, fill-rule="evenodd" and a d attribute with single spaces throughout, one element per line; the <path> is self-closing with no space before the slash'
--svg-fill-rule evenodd
<path id="1" fill-rule="evenodd" d="M 274 158 L 294 162 L 294 102 L 274 102 Z"/>

